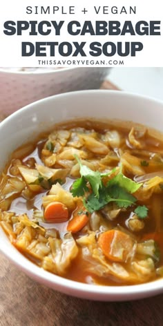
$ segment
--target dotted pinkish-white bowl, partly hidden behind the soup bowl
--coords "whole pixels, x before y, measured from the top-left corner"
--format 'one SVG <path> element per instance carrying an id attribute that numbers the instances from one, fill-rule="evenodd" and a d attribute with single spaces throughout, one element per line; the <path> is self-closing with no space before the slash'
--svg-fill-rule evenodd
<path id="1" fill-rule="evenodd" d="M 9 115 L 45 97 L 99 88 L 110 68 L 46 68 L 35 71 L 0 69 L 0 113 Z"/>

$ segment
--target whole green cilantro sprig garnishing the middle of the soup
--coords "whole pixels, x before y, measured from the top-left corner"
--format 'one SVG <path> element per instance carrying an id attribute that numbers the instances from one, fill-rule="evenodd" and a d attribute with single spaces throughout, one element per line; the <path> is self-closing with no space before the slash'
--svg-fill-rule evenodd
<path id="1" fill-rule="evenodd" d="M 109 173 L 100 173 L 83 165 L 77 155 L 75 155 L 75 158 L 79 163 L 81 178 L 75 180 L 70 192 L 74 197 L 83 196 L 84 207 L 86 207 L 88 212 L 93 213 L 93 211 L 99 211 L 99 209 L 102 209 L 109 202 L 115 202 L 120 208 L 128 208 L 132 204 L 135 204 L 136 198 L 132 193 L 135 193 L 142 184 L 138 184 L 127 178 L 120 171 L 105 185 L 103 178 L 106 175 L 111 175 L 115 172 L 115 169 Z M 142 215 L 143 212 L 145 215 L 144 209 L 142 209 Z"/>

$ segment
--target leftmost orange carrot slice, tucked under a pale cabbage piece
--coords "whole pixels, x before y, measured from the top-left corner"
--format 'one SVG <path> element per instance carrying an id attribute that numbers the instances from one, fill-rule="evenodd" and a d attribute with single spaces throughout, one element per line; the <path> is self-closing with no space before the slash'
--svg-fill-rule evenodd
<path id="1" fill-rule="evenodd" d="M 68 209 L 62 202 L 50 202 L 44 211 L 46 222 L 66 222 L 68 220 Z"/>

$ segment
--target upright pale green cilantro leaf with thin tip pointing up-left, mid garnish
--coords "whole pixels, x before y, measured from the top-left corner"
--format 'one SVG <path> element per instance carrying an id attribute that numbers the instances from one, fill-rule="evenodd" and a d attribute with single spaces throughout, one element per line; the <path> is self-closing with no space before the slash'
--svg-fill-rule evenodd
<path id="1" fill-rule="evenodd" d="M 80 174 L 81 177 L 84 177 L 93 189 L 93 192 L 98 197 L 99 195 L 99 188 L 102 186 L 102 178 L 99 171 L 93 171 L 88 168 L 88 166 L 81 164 L 77 155 L 74 155 L 77 162 L 80 166 Z"/>

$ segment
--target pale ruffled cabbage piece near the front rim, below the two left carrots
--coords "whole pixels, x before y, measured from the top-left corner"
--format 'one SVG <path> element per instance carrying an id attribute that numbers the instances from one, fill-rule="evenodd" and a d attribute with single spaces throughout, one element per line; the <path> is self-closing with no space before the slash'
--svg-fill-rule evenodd
<path id="1" fill-rule="evenodd" d="M 70 233 L 66 233 L 63 240 L 48 238 L 48 242 L 57 274 L 62 275 L 77 256 L 79 251 L 77 244 Z"/>

